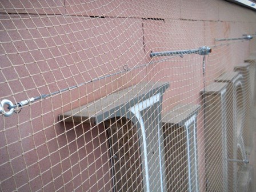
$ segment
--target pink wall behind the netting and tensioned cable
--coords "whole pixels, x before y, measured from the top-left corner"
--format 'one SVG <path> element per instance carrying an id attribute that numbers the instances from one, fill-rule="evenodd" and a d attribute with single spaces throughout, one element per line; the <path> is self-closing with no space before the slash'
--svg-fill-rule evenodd
<path id="1" fill-rule="evenodd" d="M 220 0 L 0 1 L 0 13 L 0 100 L 14 103 L 117 73 L 123 65 L 131 69 L 157 61 L 150 51 L 215 46 L 214 38 L 241 37 L 256 29 L 255 11 Z M 253 51 L 255 40 L 213 48 L 206 57 L 206 85 Z M 202 57 L 170 61 L 54 95 L 11 118 L 1 116 L 1 190 L 109 191 L 103 125 L 64 124 L 58 115 L 142 80 L 170 82 L 164 111 L 180 102 L 201 103 Z M 203 165 L 202 111 L 198 151 Z M 203 190 L 203 166 L 199 169 Z"/>

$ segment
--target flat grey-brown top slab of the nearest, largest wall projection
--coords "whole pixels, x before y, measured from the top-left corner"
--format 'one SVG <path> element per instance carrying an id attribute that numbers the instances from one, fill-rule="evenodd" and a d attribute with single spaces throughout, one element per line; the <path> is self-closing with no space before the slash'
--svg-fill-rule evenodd
<path id="1" fill-rule="evenodd" d="M 163 93 L 168 87 L 169 83 L 165 82 L 141 82 L 127 89 L 109 94 L 106 97 L 88 103 L 87 105 L 67 111 L 66 113 L 59 115 L 59 121 L 68 123 L 89 123 L 95 125 L 104 121 L 104 119 L 111 118 L 113 115 L 113 117 L 118 116 L 119 110 L 128 109 L 136 103 L 151 97 L 150 95 L 154 95 L 161 89 L 163 89 L 161 91 Z"/>

